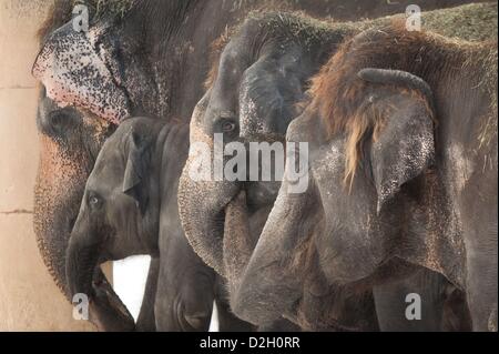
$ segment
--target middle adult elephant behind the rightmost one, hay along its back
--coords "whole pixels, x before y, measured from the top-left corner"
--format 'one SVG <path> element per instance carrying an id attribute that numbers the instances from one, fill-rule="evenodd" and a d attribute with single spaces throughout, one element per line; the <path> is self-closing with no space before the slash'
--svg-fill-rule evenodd
<path id="1" fill-rule="evenodd" d="M 488 21 L 481 22 L 481 28 L 469 29 L 469 39 L 476 40 L 495 36 L 495 13 L 497 4 L 479 4 L 428 12 L 424 18 L 427 20 L 427 28 L 450 36 L 454 33 L 452 28 L 441 27 L 440 20 L 444 17 L 455 18 L 456 28 L 466 27 L 470 18 L 487 19 Z M 207 146 L 214 146 L 215 133 L 223 135 L 224 146 L 232 142 L 242 142 L 247 146 L 249 142 L 283 141 L 289 121 L 298 115 L 299 107 L 295 103 L 304 98 L 308 78 L 338 48 L 343 39 L 361 28 L 391 20 L 325 24 L 286 13 L 246 20 L 225 47 L 220 62 L 216 62 L 218 67 L 213 70 L 216 75 L 211 82 L 211 90 L 200 101 L 191 121 L 191 143 L 203 142 Z M 198 166 L 196 153 L 193 148 L 181 182 L 183 225 L 195 251 L 205 262 L 221 274 L 231 276 L 226 274 L 226 270 L 234 271 L 232 275 L 237 283 L 263 227 L 259 220 L 265 220 L 266 216 L 262 214 L 266 215 L 272 208 L 279 183 L 192 179 L 191 172 Z M 241 189 L 245 190 L 247 199 L 246 213 L 251 215 L 248 224 L 252 235 L 247 237 L 249 241 L 233 240 L 231 243 L 227 224 L 224 225 L 221 220 L 227 223 L 226 208 Z M 244 224 L 244 221 L 238 223 Z M 237 225 L 237 222 L 232 224 Z M 426 289 L 426 281 L 431 277 L 436 277 L 436 283 L 441 285 L 435 287 L 439 291 L 431 296 L 445 299 L 442 293 L 449 284 L 436 274 L 422 274 L 414 282 L 419 284 L 416 289 Z M 405 284 L 401 286 L 404 289 Z M 237 287 L 237 284 L 233 287 Z M 431 328 L 437 327 L 439 325 L 431 325 Z"/>

